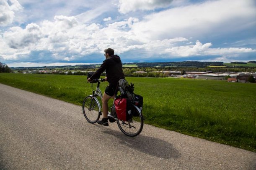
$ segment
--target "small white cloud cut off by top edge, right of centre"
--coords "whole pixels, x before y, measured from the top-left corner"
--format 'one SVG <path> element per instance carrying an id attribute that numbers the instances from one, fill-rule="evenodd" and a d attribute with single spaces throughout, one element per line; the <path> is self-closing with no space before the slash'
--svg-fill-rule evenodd
<path id="1" fill-rule="evenodd" d="M 119 0 L 119 12 L 129 13 L 136 10 L 154 10 L 168 7 L 173 0 Z"/>

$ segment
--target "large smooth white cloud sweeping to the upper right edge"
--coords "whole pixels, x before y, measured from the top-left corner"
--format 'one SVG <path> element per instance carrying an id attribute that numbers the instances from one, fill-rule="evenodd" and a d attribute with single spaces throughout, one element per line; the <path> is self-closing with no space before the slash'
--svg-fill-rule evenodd
<path id="1" fill-rule="evenodd" d="M 153 40 L 173 37 L 200 38 L 255 27 L 255 18 L 253 0 L 206 1 L 147 15 L 134 24 L 132 30 L 136 35 L 144 35 Z"/>

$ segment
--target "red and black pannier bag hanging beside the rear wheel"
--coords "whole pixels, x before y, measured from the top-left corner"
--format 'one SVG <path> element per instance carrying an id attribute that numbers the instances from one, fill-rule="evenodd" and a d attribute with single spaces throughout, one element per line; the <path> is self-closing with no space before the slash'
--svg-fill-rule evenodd
<path id="1" fill-rule="evenodd" d="M 128 121 L 132 119 L 132 102 L 127 98 L 116 98 L 114 101 L 116 115 L 119 120 Z"/>

